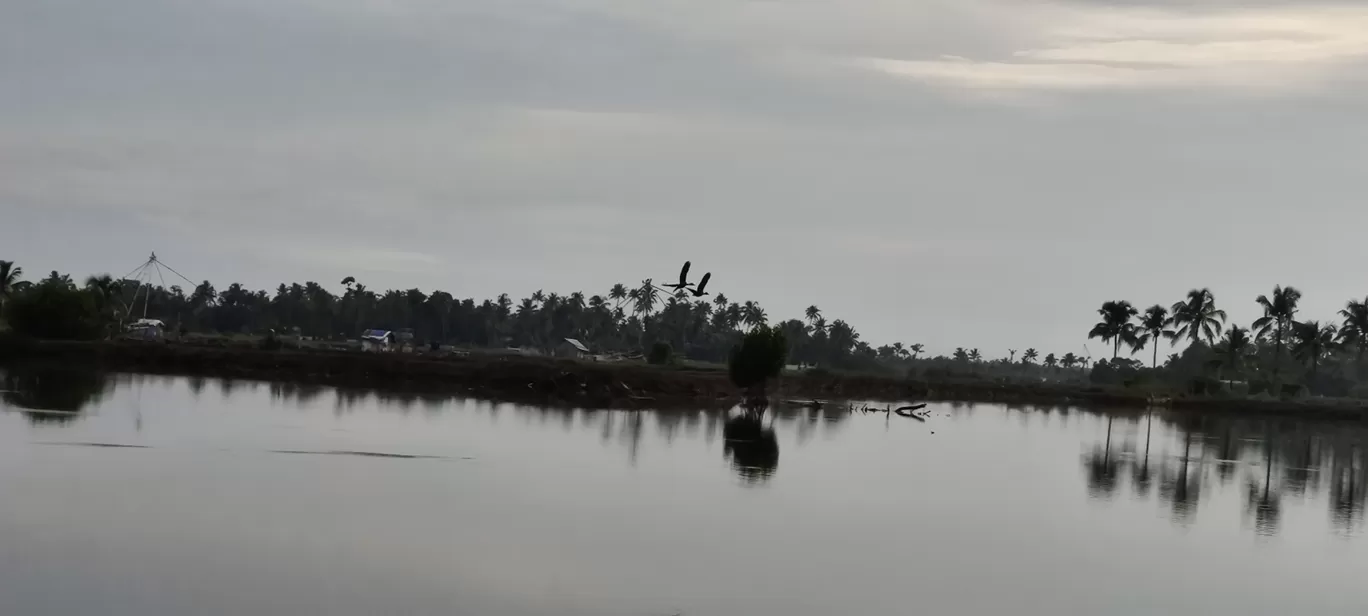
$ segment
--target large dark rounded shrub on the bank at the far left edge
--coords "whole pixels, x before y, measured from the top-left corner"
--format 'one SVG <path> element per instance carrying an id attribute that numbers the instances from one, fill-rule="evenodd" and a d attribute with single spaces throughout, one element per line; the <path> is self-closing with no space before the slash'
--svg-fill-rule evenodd
<path id="1" fill-rule="evenodd" d="M 15 334 L 41 339 L 97 339 L 104 330 L 94 297 L 60 285 L 38 285 L 12 297 L 5 320 Z"/>

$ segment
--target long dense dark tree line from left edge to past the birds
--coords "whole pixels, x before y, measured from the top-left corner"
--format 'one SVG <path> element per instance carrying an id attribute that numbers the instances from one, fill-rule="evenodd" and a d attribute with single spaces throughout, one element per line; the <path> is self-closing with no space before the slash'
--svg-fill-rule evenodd
<path id="1" fill-rule="evenodd" d="M 0 303 L 11 327 L 21 313 L 85 312 L 70 331 L 42 329 L 45 337 L 89 338 L 115 335 L 123 324 L 148 316 L 171 330 L 193 333 L 263 334 L 298 329 L 317 339 L 354 339 L 368 329 L 410 330 L 415 339 L 472 348 L 532 348 L 550 350 L 565 338 L 576 338 L 594 352 L 642 353 L 657 342 L 676 355 L 724 363 L 746 331 L 772 326 L 784 334 L 788 360 L 841 370 L 885 368 L 889 361 L 912 360 L 919 344 L 871 346 L 841 319 L 828 320 L 808 307 L 802 319 L 777 323 L 755 301 L 732 301 L 715 294 L 710 301 L 674 297 L 653 281 L 613 285 L 587 294 L 538 290 L 521 300 L 509 294 L 494 298 L 458 298 L 443 290 L 420 289 L 383 293 L 354 277 L 341 281 L 341 293 L 317 282 L 282 283 L 274 293 L 233 283 L 219 290 L 204 281 L 193 289 L 178 285 L 145 285 L 109 275 L 78 285 L 70 275 L 51 272 L 38 281 L 23 279 L 23 270 L 0 261 Z M 29 311 L 30 304 L 44 304 Z M 53 311 L 67 305 L 63 311 Z M 3 304 L 0 304 L 3 307 Z M 37 318 L 37 316 L 36 316 Z M 27 323 L 25 323 L 29 326 Z"/>

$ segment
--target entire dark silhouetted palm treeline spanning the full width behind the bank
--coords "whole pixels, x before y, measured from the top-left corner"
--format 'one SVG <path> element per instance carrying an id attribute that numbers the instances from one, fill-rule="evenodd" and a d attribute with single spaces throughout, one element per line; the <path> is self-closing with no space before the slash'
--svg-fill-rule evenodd
<path id="1" fill-rule="evenodd" d="M 21 267 L 0 261 L 5 322 L 40 338 L 111 337 L 124 323 L 149 316 L 172 331 L 187 333 L 298 331 L 308 338 L 343 341 L 368 329 L 410 330 L 420 344 L 542 352 L 576 338 L 595 353 L 725 363 L 746 331 L 770 326 L 784 335 L 789 364 L 932 382 L 1056 382 L 1237 397 L 1368 397 L 1368 298 L 1347 301 L 1334 322 L 1300 320 L 1300 300 L 1297 289 L 1275 286 L 1271 294 L 1252 298 L 1263 316 L 1248 327 L 1228 323 L 1208 289 L 1194 289 L 1181 301 L 1144 311 L 1129 301 L 1107 301 L 1089 337 L 1109 346 L 1109 360 L 1037 349 L 1010 349 L 1007 357 L 995 360 L 974 348 L 923 357 L 919 344 L 873 346 L 850 323 L 828 320 L 815 305 L 800 319 L 772 323 L 754 301 L 732 301 L 725 293 L 706 300 L 674 297 L 648 279 L 636 286 L 613 285 L 599 294 L 539 290 L 521 300 L 508 294 L 460 298 L 440 290 L 378 293 L 352 277 L 341 282 L 341 293 L 317 282 L 282 283 L 274 292 L 239 283 L 219 290 L 209 282 L 193 289 L 144 286 L 108 275 L 78 285 L 56 271 L 27 281 Z M 64 322 L 53 323 L 55 315 L 66 315 Z M 1182 349 L 1161 353 L 1163 342 Z M 655 353 L 666 348 L 668 353 Z M 1142 359 L 1129 359 L 1127 352 Z"/>

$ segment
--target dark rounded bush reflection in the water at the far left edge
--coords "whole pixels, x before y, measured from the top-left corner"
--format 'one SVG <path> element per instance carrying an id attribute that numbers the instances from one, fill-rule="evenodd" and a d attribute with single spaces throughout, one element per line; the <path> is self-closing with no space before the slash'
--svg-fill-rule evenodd
<path id="1" fill-rule="evenodd" d="M 30 423 L 63 426 L 79 419 L 111 385 L 101 372 L 45 365 L 8 368 L 0 389 L 4 402 L 22 409 Z"/>

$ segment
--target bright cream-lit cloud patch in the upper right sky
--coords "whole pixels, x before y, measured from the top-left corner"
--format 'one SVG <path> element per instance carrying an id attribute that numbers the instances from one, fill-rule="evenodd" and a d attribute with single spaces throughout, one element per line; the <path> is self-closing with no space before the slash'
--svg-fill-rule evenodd
<path id="1" fill-rule="evenodd" d="M 1030 11 L 1030 8 L 1018 8 Z M 1368 60 L 1368 7 L 1213 10 L 1047 5 L 1034 47 L 997 59 L 856 57 L 966 89 L 1315 92 Z"/>

